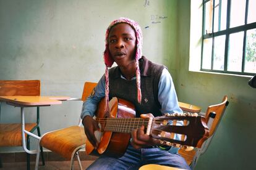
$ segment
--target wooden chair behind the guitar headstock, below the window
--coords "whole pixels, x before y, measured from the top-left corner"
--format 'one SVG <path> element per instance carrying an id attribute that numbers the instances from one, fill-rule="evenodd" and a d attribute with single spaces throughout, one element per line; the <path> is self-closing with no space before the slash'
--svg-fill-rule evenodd
<path id="1" fill-rule="evenodd" d="M 203 143 L 202 148 L 194 148 L 194 150 L 191 151 L 184 151 L 181 149 L 179 150 L 179 154 L 185 158 L 187 164 L 190 165 L 191 169 L 195 168 L 195 165 L 197 164 L 200 155 L 205 153 L 208 146 L 210 145 L 211 139 L 215 134 L 218 124 L 220 124 L 221 118 L 224 114 L 226 107 L 228 106 L 228 103 L 228 97 L 225 95 L 221 103 L 216 105 L 210 105 L 207 108 L 205 118 L 207 119 L 207 126 L 210 130 L 210 137 Z"/>

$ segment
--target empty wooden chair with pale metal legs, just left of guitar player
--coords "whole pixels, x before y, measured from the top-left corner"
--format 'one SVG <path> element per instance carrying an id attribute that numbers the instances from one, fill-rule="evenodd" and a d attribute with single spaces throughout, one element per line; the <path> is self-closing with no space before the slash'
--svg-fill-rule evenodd
<path id="1" fill-rule="evenodd" d="M 84 102 L 95 86 L 96 83 L 85 82 L 83 86 L 82 99 L 80 100 Z M 74 157 L 76 155 L 80 169 L 82 169 L 78 152 L 82 148 L 85 148 L 86 136 L 83 127 L 81 126 L 82 120 L 80 119 L 79 125 L 77 126 L 70 126 L 64 129 L 58 129 L 56 131 L 47 132 L 46 134 L 43 134 L 43 136 L 41 137 L 40 145 L 42 147 L 48 148 L 49 150 L 55 153 L 58 153 L 63 158 L 70 160 L 70 169 L 73 169 Z M 35 169 L 38 169 L 38 161 L 39 149 L 36 155 Z"/>

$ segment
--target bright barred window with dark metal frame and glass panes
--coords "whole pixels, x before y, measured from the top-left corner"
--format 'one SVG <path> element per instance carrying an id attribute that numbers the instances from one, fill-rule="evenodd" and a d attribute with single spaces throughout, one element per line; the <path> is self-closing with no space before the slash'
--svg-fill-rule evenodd
<path id="1" fill-rule="evenodd" d="M 202 71 L 255 75 L 256 0 L 203 0 Z"/>

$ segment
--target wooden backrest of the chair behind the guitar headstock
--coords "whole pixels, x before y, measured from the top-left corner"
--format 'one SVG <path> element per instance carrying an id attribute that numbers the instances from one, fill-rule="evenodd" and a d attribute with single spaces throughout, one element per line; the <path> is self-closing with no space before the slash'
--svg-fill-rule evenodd
<path id="1" fill-rule="evenodd" d="M 221 103 L 216 105 L 210 105 L 207 108 L 207 111 L 205 113 L 205 118 L 207 119 L 207 122 L 209 120 L 209 115 L 211 112 L 215 112 L 216 114 L 210 128 L 210 132 L 209 132 L 210 136 L 212 136 L 213 133 L 216 131 L 218 124 L 220 123 L 221 117 L 223 116 L 223 113 L 227 106 L 228 106 L 228 97 L 225 95 Z"/>

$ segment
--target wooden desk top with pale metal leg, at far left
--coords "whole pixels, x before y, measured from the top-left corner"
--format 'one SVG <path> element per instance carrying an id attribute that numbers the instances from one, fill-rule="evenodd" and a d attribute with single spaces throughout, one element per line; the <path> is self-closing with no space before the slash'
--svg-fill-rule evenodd
<path id="1" fill-rule="evenodd" d="M 64 100 L 69 100 L 66 96 L 0 96 L 1 102 L 6 102 L 9 105 L 20 107 L 21 123 L 22 123 L 22 147 L 25 152 L 36 154 L 36 150 L 28 150 L 25 140 L 25 133 L 29 136 L 40 140 L 39 136 L 25 130 L 25 107 L 45 107 L 50 105 L 60 105 Z"/>

